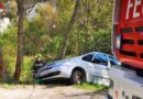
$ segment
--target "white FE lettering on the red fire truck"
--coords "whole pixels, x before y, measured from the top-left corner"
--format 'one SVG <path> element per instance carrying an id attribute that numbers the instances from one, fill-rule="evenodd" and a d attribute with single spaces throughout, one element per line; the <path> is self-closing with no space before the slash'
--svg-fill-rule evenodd
<path id="1" fill-rule="evenodd" d="M 133 8 L 133 18 L 139 18 L 140 16 L 140 12 L 136 11 L 138 7 L 141 4 L 141 0 L 135 0 L 134 2 L 134 8 Z M 127 10 L 127 20 L 129 19 L 129 13 L 131 11 L 131 8 L 133 7 L 133 3 L 131 2 L 131 0 L 128 1 L 128 10 Z M 143 7 L 142 7 L 142 13 L 143 13 Z"/>

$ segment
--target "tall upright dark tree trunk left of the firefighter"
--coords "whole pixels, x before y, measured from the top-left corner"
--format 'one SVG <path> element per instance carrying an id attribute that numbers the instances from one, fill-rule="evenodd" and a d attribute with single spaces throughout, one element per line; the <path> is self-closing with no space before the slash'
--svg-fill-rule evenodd
<path id="1" fill-rule="evenodd" d="M 18 55 L 14 79 L 19 81 L 22 65 L 22 32 L 23 32 L 23 12 L 24 12 L 24 0 L 16 0 L 18 2 L 18 15 L 19 15 L 19 29 L 18 29 Z"/>

